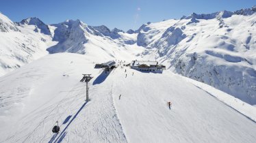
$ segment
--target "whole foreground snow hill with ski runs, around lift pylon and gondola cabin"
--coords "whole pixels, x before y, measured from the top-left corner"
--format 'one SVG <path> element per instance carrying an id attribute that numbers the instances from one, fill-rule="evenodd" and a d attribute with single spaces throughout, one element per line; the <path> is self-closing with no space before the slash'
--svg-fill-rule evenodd
<path id="1" fill-rule="evenodd" d="M 256 142 L 253 106 L 193 81 L 51 54 L 0 78 L 0 142 Z"/>

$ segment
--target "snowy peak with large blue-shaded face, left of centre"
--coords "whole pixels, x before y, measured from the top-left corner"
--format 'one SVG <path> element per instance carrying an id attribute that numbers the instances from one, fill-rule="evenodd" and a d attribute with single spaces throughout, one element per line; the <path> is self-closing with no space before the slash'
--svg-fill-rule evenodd
<path id="1" fill-rule="evenodd" d="M 56 27 L 53 40 L 58 44 L 47 49 L 50 53 L 73 52 L 97 56 L 95 54 L 100 54 L 97 53 L 99 52 L 97 49 L 99 49 L 102 53 L 101 56 L 107 54 L 105 57 L 103 56 L 103 59 L 116 59 L 115 50 L 125 52 L 125 49 L 130 49 L 130 43 L 136 43 L 133 42 L 136 40 L 136 35 L 129 35 L 118 29 L 110 31 L 105 26 L 88 26 L 80 20 L 66 20 L 52 26 Z M 97 52 L 95 53 L 95 51 Z"/>

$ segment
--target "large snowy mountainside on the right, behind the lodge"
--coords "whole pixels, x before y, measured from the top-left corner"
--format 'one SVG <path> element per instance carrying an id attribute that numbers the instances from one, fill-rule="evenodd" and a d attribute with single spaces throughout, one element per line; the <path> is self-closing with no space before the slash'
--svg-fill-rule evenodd
<path id="1" fill-rule="evenodd" d="M 172 71 L 256 104 L 256 10 L 145 24 L 137 44 Z"/>

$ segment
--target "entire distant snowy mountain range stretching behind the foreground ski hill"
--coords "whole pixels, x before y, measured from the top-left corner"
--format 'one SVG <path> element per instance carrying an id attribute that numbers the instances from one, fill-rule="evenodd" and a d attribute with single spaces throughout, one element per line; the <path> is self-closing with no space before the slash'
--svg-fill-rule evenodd
<path id="1" fill-rule="evenodd" d="M 157 60 L 172 72 L 256 104 L 256 7 L 148 22 L 138 30 L 92 27 L 80 20 L 47 25 L 0 14 L 0 75 L 47 54 Z"/>

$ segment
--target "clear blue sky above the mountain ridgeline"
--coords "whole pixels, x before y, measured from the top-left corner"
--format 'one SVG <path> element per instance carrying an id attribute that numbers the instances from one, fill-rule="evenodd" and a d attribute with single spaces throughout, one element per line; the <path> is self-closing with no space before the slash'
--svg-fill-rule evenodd
<path id="1" fill-rule="evenodd" d="M 253 5 L 255 0 L 1 0 L 0 12 L 14 22 L 28 17 L 47 24 L 79 19 L 88 25 L 127 31 L 192 12 L 235 11 Z"/>

